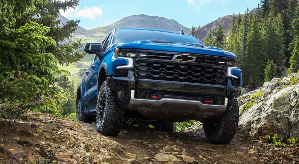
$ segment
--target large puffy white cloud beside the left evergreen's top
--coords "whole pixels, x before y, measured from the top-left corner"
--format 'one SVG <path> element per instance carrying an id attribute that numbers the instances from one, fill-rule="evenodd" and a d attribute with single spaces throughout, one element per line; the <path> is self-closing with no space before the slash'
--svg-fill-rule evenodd
<path id="1" fill-rule="evenodd" d="M 103 15 L 102 9 L 108 9 L 103 5 L 92 6 L 92 7 L 84 7 L 80 9 L 78 6 L 75 8 L 69 8 L 66 11 L 60 10 L 61 15 L 69 18 L 83 17 L 89 19 L 101 18 Z"/>

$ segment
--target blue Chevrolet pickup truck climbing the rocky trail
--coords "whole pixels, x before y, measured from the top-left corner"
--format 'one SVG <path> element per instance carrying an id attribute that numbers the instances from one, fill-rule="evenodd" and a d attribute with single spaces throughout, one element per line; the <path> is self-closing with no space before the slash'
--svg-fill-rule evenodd
<path id="1" fill-rule="evenodd" d="M 126 123 L 199 120 L 211 143 L 230 142 L 238 127 L 242 72 L 238 58 L 180 32 L 115 28 L 95 54 L 77 91 L 77 119 L 116 136 Z"/>

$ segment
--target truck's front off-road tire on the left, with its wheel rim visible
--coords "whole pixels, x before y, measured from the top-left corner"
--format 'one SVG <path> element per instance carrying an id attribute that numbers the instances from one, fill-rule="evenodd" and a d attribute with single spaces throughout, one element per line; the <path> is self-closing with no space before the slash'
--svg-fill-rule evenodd
<path id="1" fill-rule="evenodd" d="M 103 93 L 105 93 L 104 98 Z M 104 101 L 101 100 L 101 95 Z M 124 116 L 125 109 L 118 105 L 116 92 L 107 86 L 107 81 L 104 81 L 97 96 L 97 131 L 103 135 L 117 136 L 123 126 Z"/>

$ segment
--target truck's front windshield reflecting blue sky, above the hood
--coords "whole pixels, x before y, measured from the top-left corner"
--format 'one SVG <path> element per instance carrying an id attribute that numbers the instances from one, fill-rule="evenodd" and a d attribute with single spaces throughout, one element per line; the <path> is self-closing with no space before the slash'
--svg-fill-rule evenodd
<path id="1" fill-rule="evenodd" d="M 167 33 L 151 30 L 118 29 L 115 31 L 113 43 L 134 42 L 146 40 L 163 40 L 170 43 L 195 43 L 202 44 L 197 38 L 190 35 Z"/>

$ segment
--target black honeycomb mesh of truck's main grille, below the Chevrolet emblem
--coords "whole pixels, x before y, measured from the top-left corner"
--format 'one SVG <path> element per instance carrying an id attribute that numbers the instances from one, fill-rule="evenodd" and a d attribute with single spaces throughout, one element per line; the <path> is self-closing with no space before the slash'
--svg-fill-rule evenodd
<path id="1" fill-rule="evenodd" d="M 213 62 L 213 61 L 211 61 Z M 218 61 L 217 61 L 218 63 Z M 135 77 L 141 79 L 181 81 L 224 85 L 226 68 L 213 68 L 211 66 L 191 65 L 190 63 L 162 62 L 154 60 L 136 60 L 134 67 Z"/>

